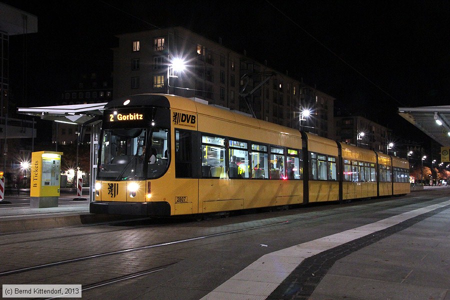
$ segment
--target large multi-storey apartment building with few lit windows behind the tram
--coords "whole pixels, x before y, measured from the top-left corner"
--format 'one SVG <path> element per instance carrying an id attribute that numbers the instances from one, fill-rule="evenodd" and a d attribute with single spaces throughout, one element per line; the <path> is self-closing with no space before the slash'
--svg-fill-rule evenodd
<path id="1" fill-rule="evenodd" d="M 334 98 L 181 26 L 117 35 L 113 94 L 169 93 L 334 139 Z M 177 61 L 185 68 L 175 68 Z M 243 87 L 245 89 L 242 91 Z M 240 94 L 246 94 L 247 100 Z M 310 113 L 305 116 L 303 110 Z"/>

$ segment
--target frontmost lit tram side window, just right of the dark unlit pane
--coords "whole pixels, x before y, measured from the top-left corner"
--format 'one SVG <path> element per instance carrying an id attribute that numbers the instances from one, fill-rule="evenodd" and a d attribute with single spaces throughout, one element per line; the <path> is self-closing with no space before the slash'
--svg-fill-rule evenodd
<path id="1" fill-rule="evenodd" d="M 201 177 L 226 178 L 225 138 L 201 136 Z"/>

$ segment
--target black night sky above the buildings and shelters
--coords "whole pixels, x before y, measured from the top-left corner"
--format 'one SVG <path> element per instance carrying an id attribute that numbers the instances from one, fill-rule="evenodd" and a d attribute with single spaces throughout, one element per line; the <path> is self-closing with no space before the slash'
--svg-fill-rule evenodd
<path id="1" fill-rule="evenodd" d="M 417 141 L 424 135 L 397 107 L 449 104 L 450 1 L 2 2 L 38 17 L 38 33 L 27 37 L 26 100 L 23 37 L 10 38 L 10 95 L 18 106 L 54 104 L 83 72 L 111 71 L 114 34 L 167 25 L 221 37 L 407 139 L 411 130 Z"/>

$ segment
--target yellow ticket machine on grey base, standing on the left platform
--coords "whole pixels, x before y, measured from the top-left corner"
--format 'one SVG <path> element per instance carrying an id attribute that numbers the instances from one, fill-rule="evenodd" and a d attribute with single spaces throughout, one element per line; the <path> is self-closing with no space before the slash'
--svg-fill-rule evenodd
<path id="1" fill-rule="evenodd" d="M 61 177 L 62 152 L 31 153 L 29 207 L 57 207 Z"/>

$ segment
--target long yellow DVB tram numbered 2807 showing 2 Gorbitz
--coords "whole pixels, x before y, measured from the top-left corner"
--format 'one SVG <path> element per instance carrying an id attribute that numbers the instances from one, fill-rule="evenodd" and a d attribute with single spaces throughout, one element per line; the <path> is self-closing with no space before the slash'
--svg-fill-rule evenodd
<path id="1" fill-rule="evenodd" d="M 409 192 L 404 159 L 165 94 L 108 102 L 98 157 L 92 213 L 201 214 Z"/>

